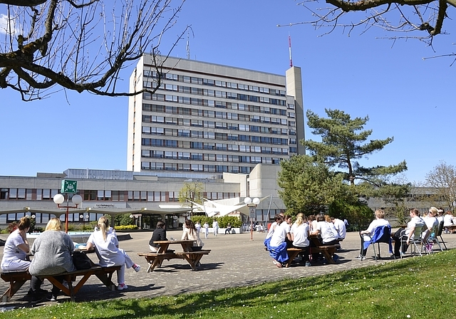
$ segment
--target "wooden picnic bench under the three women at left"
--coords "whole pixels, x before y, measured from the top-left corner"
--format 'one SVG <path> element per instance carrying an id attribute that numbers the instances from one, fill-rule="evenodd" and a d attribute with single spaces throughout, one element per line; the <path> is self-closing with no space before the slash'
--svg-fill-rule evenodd
<path id="1" fill-rule="evenodd" d="M 111 266 L 111 267 L 101 267 L 101 266 L 92 266 L 89 269 L 83 269 L 81 271 L 71 271 L 69 273 L 58 273 L 51 276 L 38 276 L 39 278 L 48 279 L 50 283 L 57 286 L 61 289 L 66 296 L 69 296 L 71 301 L 74 300 L 76 293 L 81 289 L 81 287 L 86 283 L 90 276 L 95 275 L 102 283 L 105 284 L 108 289 L 115 291 L 115 285 L 111 281 L 114 271 L 120 270 L 120 266 Z M 2 302 L 7 302 L 14 296 L 14 294 L 19 291 L 19 289 L 26 283 L 26 281 L 31 279 L 31 274 L 28 271 L 19 271 L 19 272 L 8 272 L 1 273 L 1 278 L 9 282 L 9 288 L 1 296 Z M 56 276 L 63 276 L 64 280 L 68 283 L 68 287 L 63 286 L 62 283 L 57 281 Z M 73 287 L 73 281 L 76 281 L 76 278 L 82 276 L 82 278 L 76 283 L 76 286 Z"/>

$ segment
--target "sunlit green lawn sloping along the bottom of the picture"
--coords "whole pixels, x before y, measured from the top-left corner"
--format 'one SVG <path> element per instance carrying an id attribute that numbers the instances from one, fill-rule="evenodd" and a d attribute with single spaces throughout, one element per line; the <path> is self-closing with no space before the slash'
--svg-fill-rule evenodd
<path id="1" fill-rule="evenodd" d="M 318 275 L 318 267 L 309 271 Z M 455 295 L 453 249 L 325 276 L 179 296 L 21 308 L 0 318 L 448 318 Z"/>

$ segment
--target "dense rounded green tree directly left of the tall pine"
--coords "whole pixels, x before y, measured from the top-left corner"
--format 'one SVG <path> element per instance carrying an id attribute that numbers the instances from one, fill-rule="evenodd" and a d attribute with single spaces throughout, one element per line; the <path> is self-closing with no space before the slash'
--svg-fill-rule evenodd
<path id="1" fill-rule="evenodd" d="M 342 174 L 331 172 L 321 161 L 314 161 L 308 155 L 296 155 L 280 164 L 279 197 L 289 214 L 318 214 L 338 198 L 356 200 L 348 185 L 343 184 Z"/>

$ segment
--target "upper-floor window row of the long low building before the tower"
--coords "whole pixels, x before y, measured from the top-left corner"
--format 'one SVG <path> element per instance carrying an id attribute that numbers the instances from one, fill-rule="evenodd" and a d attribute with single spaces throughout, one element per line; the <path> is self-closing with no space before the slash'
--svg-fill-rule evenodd
<path id="1" fill-rule="evenodd" d="M 78 190 L 83 201 L 110 201 L 110 202 L 179 202 L 179 192 L 154 192 L 154 191 L 112 191 L 112 190 Z M 2 188 L 0 199 L 5 200 L 46 200 L 51 198 L 39 197 L 38 194 L 58 194 L 58 189 L 25 189 Z M 24 194 L 24 197 L 19 194 Z M 239 194 L 230 192 L 204 192 L 202 197 L 207 199 L 229 199 L 239 197 Z"/>

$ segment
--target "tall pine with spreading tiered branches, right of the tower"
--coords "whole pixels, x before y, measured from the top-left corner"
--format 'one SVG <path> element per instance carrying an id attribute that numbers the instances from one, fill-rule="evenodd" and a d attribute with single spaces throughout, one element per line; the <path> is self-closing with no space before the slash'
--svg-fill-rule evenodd
<path id="1" fill-rule="evenodd" d="M 358 182 L 361 194 L 369 194 L 375 190 L 379 193 L 383 187 L 385 196 L 401 196 L 403 187 L 388 183 L 390 178 L 407 169 L 405 161 L 390 166 L 363 167 L 358 160 L 378 152 L 390 142 L 393 137 L 385 140 L 370 140 L 372 130 L 363 130 L 369 117 L 351 118 L 341 110 L 325 109 L 326 117 L 319 117 L 311 110 L 307 111 L 308 125 L 312 134 L 320 135 L 321 142 L 302 140 L 301 144 L 310 151 L 314 160 L 324 162 L 329 167 L 341 169 L 344 181 L 352 186 Z M 373 193 L 372 193 L 373 194 Z"/>

